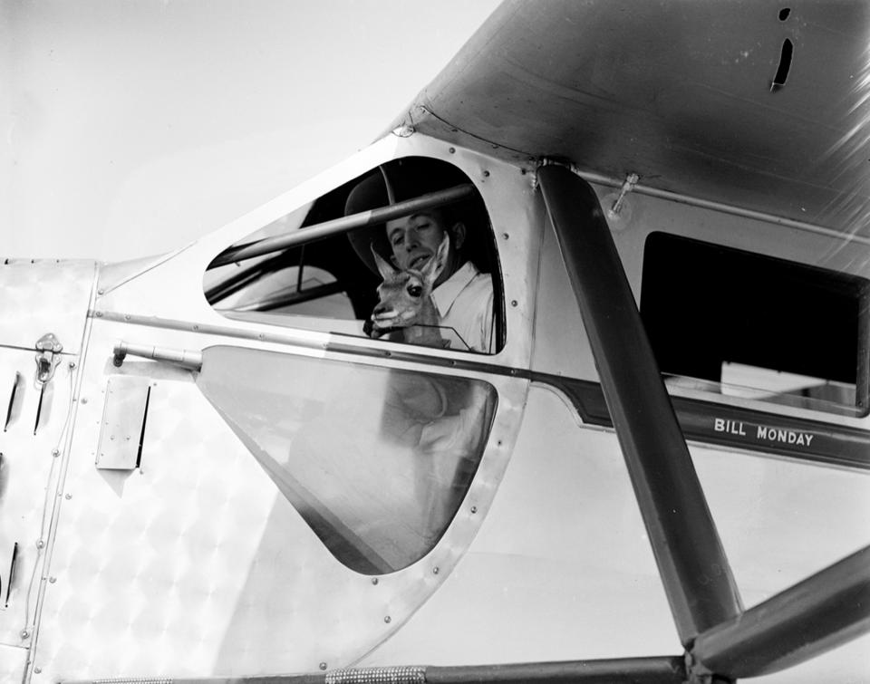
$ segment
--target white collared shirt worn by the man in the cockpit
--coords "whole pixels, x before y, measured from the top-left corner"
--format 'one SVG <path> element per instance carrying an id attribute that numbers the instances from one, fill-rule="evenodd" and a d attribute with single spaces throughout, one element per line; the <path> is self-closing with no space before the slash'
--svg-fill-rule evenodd
<path id="1" fill-rule="evenodd" d="M 470 261 L 432 292 L 441 319 L 441 336 L 451 349 L 494 352 L 492 276 Z"/>

